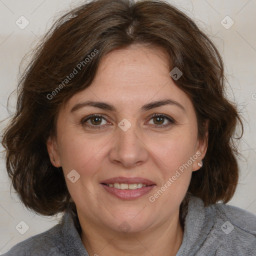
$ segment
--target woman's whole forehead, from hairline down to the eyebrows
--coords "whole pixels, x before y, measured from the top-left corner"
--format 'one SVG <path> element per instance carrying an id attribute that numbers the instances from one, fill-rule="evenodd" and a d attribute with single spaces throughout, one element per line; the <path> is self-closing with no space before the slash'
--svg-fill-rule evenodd
<path id="1" fill-rule="evenodd" d="M 172 98 L 189 107 L 190 99 L 173 82 L 169 71 L 168 56 L 159 47 L 131 45 L 113 50 L 101 59 L 90 86 L 73 95 L 68 105 L 86 99 L 124 108 Z"/>

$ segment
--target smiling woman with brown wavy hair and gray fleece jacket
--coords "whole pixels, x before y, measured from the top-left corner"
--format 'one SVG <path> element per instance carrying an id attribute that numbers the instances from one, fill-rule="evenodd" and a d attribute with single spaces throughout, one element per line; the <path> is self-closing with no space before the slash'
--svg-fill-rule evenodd
<path id="1" fill-rule="evenodd" d="M 217 49 L 184 13 L 85 3 L 19 85 L 8 174 L 25 206 L 64 215 L 4 255 L 256 255 L 256 217 L 225 205 L 241 121 Z"/>

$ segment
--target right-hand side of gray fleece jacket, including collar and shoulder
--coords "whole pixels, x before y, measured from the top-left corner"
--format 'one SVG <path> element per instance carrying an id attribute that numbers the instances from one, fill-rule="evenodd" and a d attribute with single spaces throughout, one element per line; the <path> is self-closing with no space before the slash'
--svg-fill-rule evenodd
<path id="1" fill-rule="evenodd" d="M 256 255 L 256 215 L 235 206 L 191 196 L 184 234 L 178 255 Z"/>

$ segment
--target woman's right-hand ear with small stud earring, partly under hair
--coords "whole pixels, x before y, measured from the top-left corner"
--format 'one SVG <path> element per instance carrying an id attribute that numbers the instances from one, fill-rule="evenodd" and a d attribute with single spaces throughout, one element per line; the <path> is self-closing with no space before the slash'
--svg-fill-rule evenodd
<path id="1" fill-rule="evenodd" d="M 195 154 L 198 157 L 197 157 L 197 160 L 193 162 L 193 171 L 198 170 L 202 167 L 202 159 L 204 158 L 207 151 L 209 120 L 207 119 L 203 125 L 204 125 L 205 135 L 203 139 L 197 138 L 196 146 L 195 146 Z M 198 163 L 201 164 L 201 166 L 198 165 Z"/>

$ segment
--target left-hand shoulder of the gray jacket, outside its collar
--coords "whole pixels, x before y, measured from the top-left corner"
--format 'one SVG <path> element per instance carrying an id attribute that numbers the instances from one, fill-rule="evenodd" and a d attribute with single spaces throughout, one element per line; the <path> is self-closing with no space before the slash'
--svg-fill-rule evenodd
<path id="1" fill-rule="evenodd" d="M 34 235 L 14 245 L 2 256 L 61 256 L 61 247 L 55 241 L 60 231 L 60 225 L 57 224 L 49 230 Z M 59 248 L 60 247 L 60 248 Z"/>

